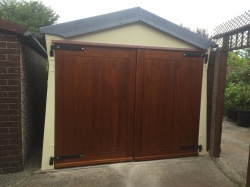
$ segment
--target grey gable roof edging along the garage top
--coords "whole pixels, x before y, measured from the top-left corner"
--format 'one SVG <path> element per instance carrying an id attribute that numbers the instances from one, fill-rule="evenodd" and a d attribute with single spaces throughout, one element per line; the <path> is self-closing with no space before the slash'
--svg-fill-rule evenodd
<path id="1" fill-rule="evenodd" d="M 41 27 L 44 34 L 59 35 L 65 38 L 114 28 L 130 23 L 143 22 L 173 37 L 181 39 L 201 49 L 207 49 L 213 41 L 165 20 L 140 7 L 80 19 L 76 21 Z"/>

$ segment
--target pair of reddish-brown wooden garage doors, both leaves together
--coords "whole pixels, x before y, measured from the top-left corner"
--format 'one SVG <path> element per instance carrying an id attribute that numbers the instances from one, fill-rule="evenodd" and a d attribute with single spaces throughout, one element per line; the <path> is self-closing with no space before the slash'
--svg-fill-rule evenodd
<path id="1" fill-rule="evenodd" d="M 55 54 L 55 168 L 198 154 L 203 58 L 91 46 Z"/>

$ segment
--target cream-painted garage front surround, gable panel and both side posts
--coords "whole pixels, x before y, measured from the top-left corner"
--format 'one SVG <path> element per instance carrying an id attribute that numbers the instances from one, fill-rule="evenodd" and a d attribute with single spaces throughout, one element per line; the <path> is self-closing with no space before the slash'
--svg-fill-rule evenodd
<path id="1" fill-rule="evenodd" d="M 195 46 L 173 38 L 166 33 L 154 29 L 143 23 L 130 24 L 127 26 L 93 32 L 72 38 L 64 38 L 54 35 L 46 35 L 47 51 L 50 51 L 52 40 L 107 43 L 135 46 L 152 46 L 179 49 L 197 49 Z M 48 57 L 49 77 L 47 90 L 46 117 L 43 141 L 42 170 L 54 169 L 49 165 L 49 159 L 54 156 L 54 134 L 55 134 L 55 58 Z M 201 154 L 206 154 L 206 81 L 207 65 L 203 68 L 202 101 L 200 112 L 199 144 L 203 145 Z"/>

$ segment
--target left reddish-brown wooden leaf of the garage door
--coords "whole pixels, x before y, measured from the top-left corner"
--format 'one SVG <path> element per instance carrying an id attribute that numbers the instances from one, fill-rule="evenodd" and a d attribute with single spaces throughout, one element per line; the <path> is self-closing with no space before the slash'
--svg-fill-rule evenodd
<path id="1" fill-rule="evenodd" d="M 133 160 L 135 71 L 133 49 L 56 51 L 55 168 Z"/>

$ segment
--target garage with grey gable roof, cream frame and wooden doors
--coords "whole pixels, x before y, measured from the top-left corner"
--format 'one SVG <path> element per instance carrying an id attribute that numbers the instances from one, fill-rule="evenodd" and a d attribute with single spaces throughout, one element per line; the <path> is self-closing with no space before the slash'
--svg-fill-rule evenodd
<path id="1" fill-rule="evenodd" d="M 41 28 L 42 169 L 206 154 L 213 44 L 139 7 Z"/>

